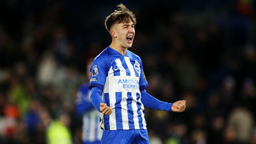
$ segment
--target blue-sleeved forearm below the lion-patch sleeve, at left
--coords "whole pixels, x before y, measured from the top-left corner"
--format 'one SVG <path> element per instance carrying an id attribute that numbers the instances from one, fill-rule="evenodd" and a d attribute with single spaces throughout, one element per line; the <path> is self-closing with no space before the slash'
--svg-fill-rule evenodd
<path id="1" fill-rule="evenodd" d="M 100 103 L 103 103 L 101 99 L 101 93 L 102 93 L 101 88 L 98 88 L 96 86 L 92 87 L 91 101 L 98 111 L 100 111 Z"/>

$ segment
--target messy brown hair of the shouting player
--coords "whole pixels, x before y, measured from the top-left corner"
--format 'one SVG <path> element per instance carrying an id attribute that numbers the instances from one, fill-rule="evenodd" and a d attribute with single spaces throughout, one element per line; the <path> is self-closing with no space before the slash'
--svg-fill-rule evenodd
<path id="1" fill-rule="evenodd" d="M 119 7 L 118 10 L 111 13 L 105 20 L 105 26 L 109 33 L 114 24 L 129 23 L 130 21 L 132 21 L 134 25 L 136 24 L 136 18 L 133 12 L 127 9 L 123 4 L 119 4 L 117 7 Z"/>

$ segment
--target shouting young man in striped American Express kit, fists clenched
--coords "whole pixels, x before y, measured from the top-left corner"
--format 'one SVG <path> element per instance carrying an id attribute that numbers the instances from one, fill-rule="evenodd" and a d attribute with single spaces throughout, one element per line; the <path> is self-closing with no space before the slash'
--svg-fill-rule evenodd
<path id="1" fill-rule="evenodd" d="M 130 48 L 136 19 L 123 4 L 106 17 L 112 43 L 91 66 L 91 101 L 101 112 L 102 144 L 149 144 L 144 107 L 182 112 L 186 101 L 162 102 L 146 92 L 142 60 Z"/>

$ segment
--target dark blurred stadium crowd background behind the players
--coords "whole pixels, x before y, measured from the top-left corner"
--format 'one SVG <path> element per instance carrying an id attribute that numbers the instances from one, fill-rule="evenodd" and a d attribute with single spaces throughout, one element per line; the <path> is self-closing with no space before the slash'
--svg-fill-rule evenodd
<path id="1" fill-rule="evenodd" d="M 256 144 L 254 0 L 0 0 L 0 143 L 45 144 L 62 119 L 81 144 L 77 88 L 119 3 L 138 21 L 129 50 L 147 92 L 186 100 L 183 113 L 145 110 L 150 143 Z"/>

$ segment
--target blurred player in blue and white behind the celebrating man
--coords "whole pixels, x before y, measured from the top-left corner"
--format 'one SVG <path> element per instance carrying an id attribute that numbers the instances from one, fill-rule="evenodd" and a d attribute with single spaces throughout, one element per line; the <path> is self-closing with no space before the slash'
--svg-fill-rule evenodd
<path id="1" fill-rule="evenodd" d="M 90 80 L 90 67 L 93 59 L 89 59 L 87 63 L 87 78 Z M 77 92 L 76 109 L 77 113 L 83 114 L 83 144 L 100 144 L 102 130 L 99 126 L 100 113 L 92 105 L 91 90 L 89 83 L 80 86 Z"/>

